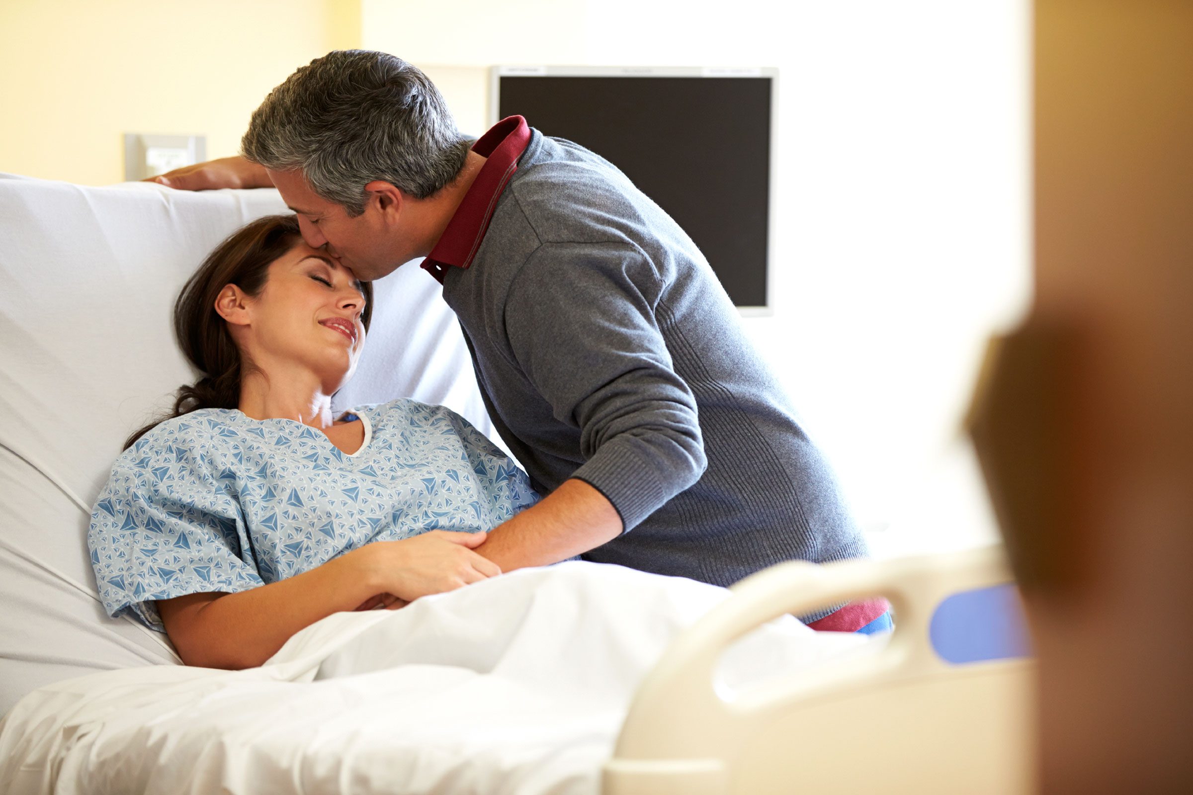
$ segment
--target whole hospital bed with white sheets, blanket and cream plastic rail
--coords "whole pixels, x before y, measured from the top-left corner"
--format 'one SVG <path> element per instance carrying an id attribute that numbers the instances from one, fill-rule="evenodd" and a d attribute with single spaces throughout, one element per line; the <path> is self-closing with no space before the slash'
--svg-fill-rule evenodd
<path id="1" fill-rule="evenodd" d="M 0 175 L 0 789 L 79 791 L 72 782 L 86 782 L 89 791 L 274 791 L 285 782 L 295 791 L 344 793 L 1031 791 L 1033 662 L 999 549 L 786 563 L 742 581 L 728 598 L 711 586 L 669 581 L 661 617 L 644 618 L 642 636 L 631 636 L 625 621 L 594 616 L 592 605 L 641 614 L 642 594 L 659 587 L 655 578 L 565 563 L 395 614 L 338 614 L 296 636 L 270 666 L 248 672 L 185 668 L 165 636 L 107 618 L 85 544 L 91 501 L 128 432 L 192 378 L 171 335 L 173 298 L 223 236 L 282 211 L 273 191 L 181 193 Z M 445 403 L 493 436 L 434 281 L 401 267 L 375 286 L 370 341 L 338 406 L 406 395 Z M 889 639 L 814 637 L 792 629 L 790 618 L 772 621 L 874 594 L 895 608 Z M 539 624 L 503 624 L 502 615 L 486 612 L 494 602 L 502 615 L 523 610 Z M 500 642 L 511 660 L 526 648 L 555 648 L 560 668 L 605 649 L 558 628 L 583 624 L 579 616 L 607 621 L 608 653 L 622 654 L 626 673 L 582 688 L 575 671 L 496 686 L 459 657 L 482 629 L 456 645 L 444 629 L 460 615 L 494 639 L 505 631 Z M 435 643 L 401 653 L 419 664 L 407 670 L 428 678 L 418 686 L 385 679 L 394 660 L 382 652 L 415 643 L 419 627 L 432 628 L 426 636 Z M 769 640 L 759 641 L 764 635 Z M 727 659 L 736 654 L 744 670 L 780 646 L 798 652 L 791 672 L 727 684 Z M 451 723 L 451 705 L 434 700 L 435 683 L 444 692 L 472 694 L 474 711 L 462 713 L 470 717 Z M 230 692 L 245 705 L 236 723 L 222 701 Z M 406 742 L 387 734 L 401 716 L 377 717 L 373 726 L 384 728 L 376 732 L 341 726 L 327 734 L 338 715 L 365 709 L 381 694 L 421 715 L 415 733 L 431 744 L 402 746 L 413 772 L 401 785 L 381 772 L 394 772 L 394 746 Z M 329 710 L 310 729 L 322 732 L 319 741 L 295 734 L 305 717 L 285 713 L 288 703 L 302 704 L 304 715 Z M 420 703 L 434 713 L 418 713 Z M 285 726 L 254 725 L 253 709 L 282 709 L 290 734 Z M 445 733 L 435 735 L 439 729 Z M 503 739 L 521 750 L 490 753 Z M 482 745 L 469 746 L 472 740 Z M 186 751 L 190 741 L 193 751 Z M 415 774 L 449 746 L 471 753 L 471 766 L 445 763 L 420 779 Z M 469 751 L 482 747 L 490 751 Z M 382 762 L 367 762 L 371 750 Z M 131 775 L 130 759 L 143 766 L 140 790 L 112 772 Z M 320 768 L 328 759 L 332 771 Z M 167 775 L 184 768 L 185 787 Z"/>

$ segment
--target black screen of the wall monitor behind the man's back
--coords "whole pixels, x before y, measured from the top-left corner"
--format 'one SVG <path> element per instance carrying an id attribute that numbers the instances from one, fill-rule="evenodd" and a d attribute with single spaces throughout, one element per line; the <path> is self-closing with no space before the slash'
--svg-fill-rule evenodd
<path id="1" fill-rule="evenodd" d="M 738 307 L 766 295 L 769 78 L 501 75 L 525 116 L 625 172 L 691 235 Z"/>

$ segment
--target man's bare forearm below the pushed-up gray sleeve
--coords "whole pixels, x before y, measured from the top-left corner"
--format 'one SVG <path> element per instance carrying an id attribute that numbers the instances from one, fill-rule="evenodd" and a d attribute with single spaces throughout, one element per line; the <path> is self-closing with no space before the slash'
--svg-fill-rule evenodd
<path id="1" fill-rule="evenodd" d="M 502 572 L 557 563 L 622 535 L 622 517 L 582 480 L 563 481 L 542 501 L 494 528 L 475 551 Z"/>

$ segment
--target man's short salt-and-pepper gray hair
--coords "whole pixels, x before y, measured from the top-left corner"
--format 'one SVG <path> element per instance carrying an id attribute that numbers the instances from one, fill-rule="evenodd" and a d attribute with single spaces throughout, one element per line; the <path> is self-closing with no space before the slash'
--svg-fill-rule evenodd
<path id="1" fill-rule="evenodd" d="M 301 171 L 319 196 L 357 216 L 364 186 L 392 183 L 427 198 L 463 170 L 469 141 L 434 84 L 387 53 L 336 50 L 270 92 L 241 153 L 272 171 Z"/>

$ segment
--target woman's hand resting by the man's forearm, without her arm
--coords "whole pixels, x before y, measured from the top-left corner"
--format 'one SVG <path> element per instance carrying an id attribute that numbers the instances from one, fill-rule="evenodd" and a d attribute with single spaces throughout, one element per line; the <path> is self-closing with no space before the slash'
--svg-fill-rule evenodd
<path id="1" fill-rule="evenodd" d="M 501 573 L 497 565 L 472 551 L 484 543 L 487 535 L 432 530 L 401 541 L 375 541 L 350 553 L 377 585 L 377 596 L 358 610 L 378 604 L 396 609 L 396 603 L 385 597 L 409 603 L 496 577 Z"/>

